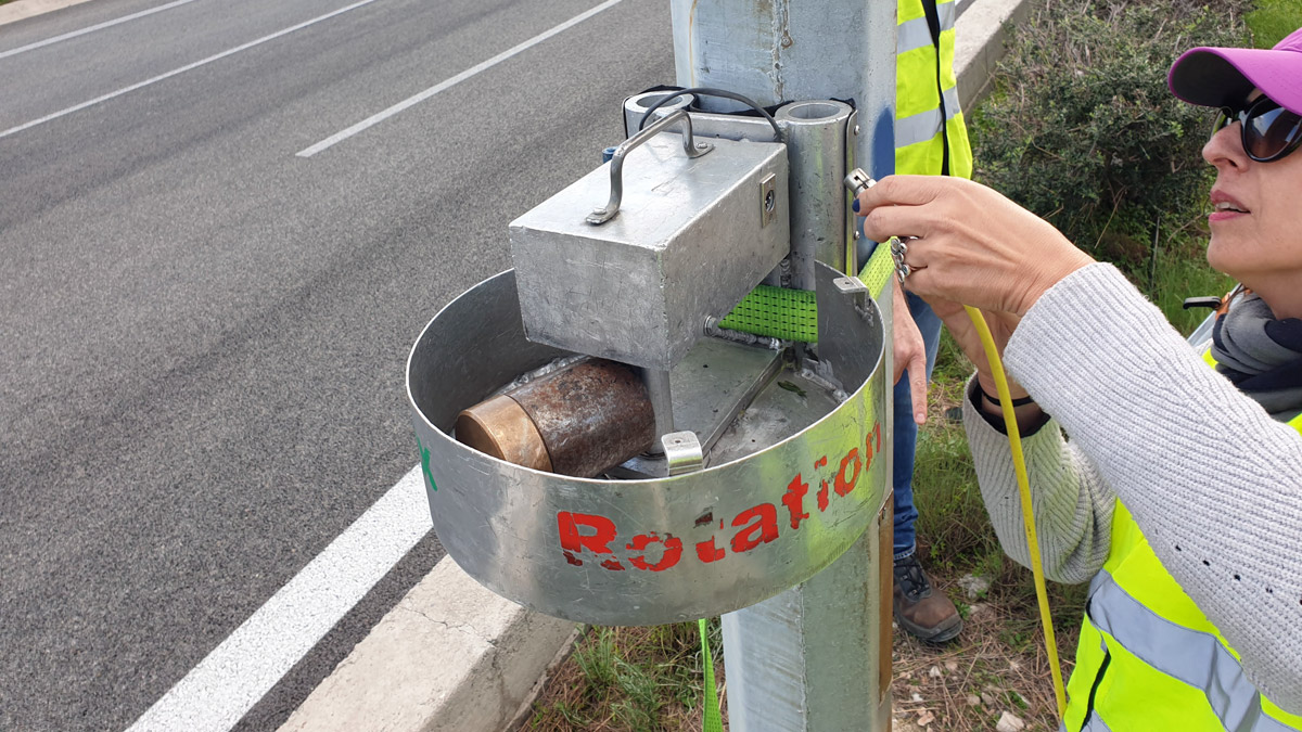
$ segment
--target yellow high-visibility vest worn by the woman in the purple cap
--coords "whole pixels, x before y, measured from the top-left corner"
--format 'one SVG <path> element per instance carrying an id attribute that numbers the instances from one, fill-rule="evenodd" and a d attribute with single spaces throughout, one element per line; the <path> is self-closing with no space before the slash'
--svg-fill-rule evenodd
<path id="1" fill-rule="evenodd" d="M 1215 365 L 1208 349 L 1203 358 Z M 1302 415 L 1289 422 L 1302 432 Z M 1090 584 L 1065 729 L 1302 729 L 1243 675 L 1238 654 L 1161 565 L 1118 500 L 1112 548 Z"/>

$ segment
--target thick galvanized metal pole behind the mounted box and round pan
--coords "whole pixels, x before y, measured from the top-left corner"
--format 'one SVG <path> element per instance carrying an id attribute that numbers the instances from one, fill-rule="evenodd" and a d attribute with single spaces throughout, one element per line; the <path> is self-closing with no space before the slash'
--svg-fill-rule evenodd
<path id="1" fill-rule="evenodd" d="M 853 102 L 855 117 L 848 122 L 844 148 L 852 159 L 827 160 L 828 173 L 855 165 L 874 177 L 893 172 L 894 0 L 672 0 L 671 10 L 680 86 L 725 89 L 762 106 Z M 711 98 L 702 99 L 702 106 L 717 112 L 741 108 Z M 801 204 L 793 186 L 793 210 Z M 853 258 L 854 249 L 849 227 L 838 225 L 844 208 L 824 218 L 833 221 L 823 236 L 842 246 L 819 247 L 818 257 L 844 267 L 846 254 L 837 251 L 850 251 Z M 805 236 L 792 234 L 793 242 Z M 874 294 L 889 333 L 891 297 Z M 889 346 L 885 353 L 891 373 Z M 891 395 L 885 399 L 885 414 L 891 414 Z M 892 438 L 888 434 L 888 456 Z M 769 600 L 723 616 L 734 732 L 891 728 L 891 518 L 888 491 L 878 521 L 827 569 Z"/>

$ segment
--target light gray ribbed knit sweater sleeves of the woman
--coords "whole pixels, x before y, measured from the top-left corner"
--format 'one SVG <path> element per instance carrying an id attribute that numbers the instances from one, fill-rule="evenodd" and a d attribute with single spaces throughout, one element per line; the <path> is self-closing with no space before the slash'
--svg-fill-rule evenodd
<path id="1" fill-rule="evenodd" d="M 1109 264 L 1044 293 L 1004 362 L 1053 415 L 1023 439 L 1046 574 L 1085 582 L 1103 567 L 1120 498 L 1253 684 L 1302 714 L 1302 435 Z M 995 531 L 1029 565 L 1008 438 L 970 400 L 963 423 Z"/>

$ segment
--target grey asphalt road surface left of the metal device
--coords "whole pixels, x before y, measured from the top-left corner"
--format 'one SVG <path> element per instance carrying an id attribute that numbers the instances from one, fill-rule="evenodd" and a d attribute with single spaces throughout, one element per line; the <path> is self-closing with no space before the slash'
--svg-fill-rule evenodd
<path id="1" fill-rule="evenodd" d="M 673 81 L 668 4 L 625 0 L 297 156 L 598 3 L 371 0 L 281 33 L 353 4 L 191 0 L 34 48 L 164 3 L 0 26 L 0 729 L 128 727 L 408 473 L 423 324 Z M 238 727 L 279 725 L 440 556 Z"/>

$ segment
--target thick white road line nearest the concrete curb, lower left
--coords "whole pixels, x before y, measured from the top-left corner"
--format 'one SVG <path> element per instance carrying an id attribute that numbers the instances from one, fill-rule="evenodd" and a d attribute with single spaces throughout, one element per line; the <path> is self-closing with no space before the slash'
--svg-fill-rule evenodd
<path id="1" fill-rule="evenodd" d="M 430 531 L 417 465 L 126 732 L 227 732 Z"/>

